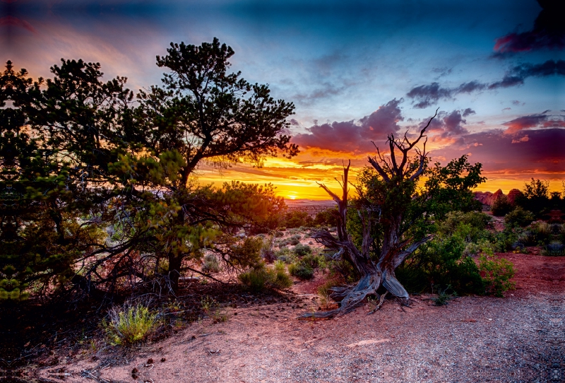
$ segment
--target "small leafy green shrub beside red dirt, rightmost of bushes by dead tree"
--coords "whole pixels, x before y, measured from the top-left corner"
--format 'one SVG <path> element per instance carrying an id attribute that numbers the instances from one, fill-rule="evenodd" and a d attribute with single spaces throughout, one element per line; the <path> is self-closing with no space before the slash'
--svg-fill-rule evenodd
<path id="1" fill-rule="evenodd" d="M 513 288 L 510 278 L 514 276 L 513 264 L 504 258 L 495 258 L 485 253 L 479 259 L 479 269 L 484 281 L 484 293 L 502 297 L 504 291 Z"/>

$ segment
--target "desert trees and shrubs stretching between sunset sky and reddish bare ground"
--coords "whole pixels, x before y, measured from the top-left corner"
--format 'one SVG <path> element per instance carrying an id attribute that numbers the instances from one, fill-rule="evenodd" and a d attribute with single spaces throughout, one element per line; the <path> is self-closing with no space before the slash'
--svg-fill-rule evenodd
<path id="1" fill-rule="evenodd" d="M 299 152 L 287 134 L 292 102 L 230 73 L 233 54 L 217 39 L 172 44 L 157 57 L 162 83 L 137 94 L 124 77 L 103 81 L 96 63 L 61 60 L 36 80 L 6 63 L 1 305 L 28 322 L 42 307 L 86 312 L 93 348 L 128 348 L 225 322 L 236 301 L 290 302 L 294 285 L 314 281 L 320 305 L 302 319 L 410 307 L 422 293 L 437 305 L 504 297 L 515 269 L 501 253 L 565 255 L 562 194 L 532 179 L 484 212 L 472 194 L 480 163 L 432 163 L 436 116 L 415 135 L 390 134 L 387 155 L 375 148 L 355 181 L 344 166 L 339 191 L 320 184 L 335 206 L 315 215 L 289 211 L 270 184 L 201 184 L 203 165 Z M 29 348 L 23 340 L 14 349 Z"/>

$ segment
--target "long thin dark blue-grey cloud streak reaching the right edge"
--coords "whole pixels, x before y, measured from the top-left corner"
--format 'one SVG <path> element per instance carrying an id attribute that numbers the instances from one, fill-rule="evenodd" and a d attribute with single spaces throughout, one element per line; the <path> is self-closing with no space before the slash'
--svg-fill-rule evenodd
<path id="1" fill-rule="evenodd" d="M 434 105 L 439 100 L 451 100 L 461 93 L 474 93 L 480 90 L 494 90 L 498 88 L 509 88 L 511 86 L 520 86 L 528 77 L 547 77 L 547 76 L 565 76 L 564 60 L 547 60 L 542 64 L 521 64 L 514 66 L 506 75 L 494 83 L 480 83 L 479 81 L 470 81 L 462 83 L 456 88 L 443 88 L 439 83 L 431 83 L 412 88 L 406 94 L 408 98 L 412 98 L 415 102 L 414 107 L 424 108 Z"/>

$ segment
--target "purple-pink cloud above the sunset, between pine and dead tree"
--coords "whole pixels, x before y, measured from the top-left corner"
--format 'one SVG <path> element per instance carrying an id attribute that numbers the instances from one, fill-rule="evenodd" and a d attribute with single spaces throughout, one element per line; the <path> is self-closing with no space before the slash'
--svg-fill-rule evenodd
<path id="1" fill-rule="evenodd" d="M 403 121 L 402 111 L 398 106 L 403 100 L 391 100 L 381 105 L 378 110 L 359 119 L 314 124 L 308 133 L 297 134 L 292 141 L 305 148 L 320 148 L 328 151 L 347 153 L 367 153 L 374 150 L 371 141 L 383 141 L 386 134 L 400 129 L 398 122 Z"/>

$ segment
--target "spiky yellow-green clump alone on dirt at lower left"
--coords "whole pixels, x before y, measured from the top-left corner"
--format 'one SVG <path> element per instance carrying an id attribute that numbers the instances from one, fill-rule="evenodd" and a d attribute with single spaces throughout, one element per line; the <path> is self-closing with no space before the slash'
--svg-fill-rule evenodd
<path id="1" fill-rule="evenodd" d="M 144 305 L 126 303 L 108 312 L 109 321 L 102 324 L 114 345 L 131 345 L 143 341 L 157 328 L 157 316 Z"/>

